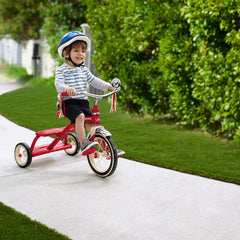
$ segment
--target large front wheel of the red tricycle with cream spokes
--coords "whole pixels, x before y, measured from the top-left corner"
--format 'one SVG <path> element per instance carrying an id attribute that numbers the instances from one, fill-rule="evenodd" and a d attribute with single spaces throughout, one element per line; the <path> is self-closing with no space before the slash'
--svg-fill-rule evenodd
<path id="1" fill-rule="evenodd" d="M 115 172 L 117 167 L 116 146 L 111 137 L 106 137 L 101 133 L 95 134 L 94 142 L 98 142 L 99 146 L 94 153 L 87 156 L 88 163 L 98 176 L 108 177 Z"/>

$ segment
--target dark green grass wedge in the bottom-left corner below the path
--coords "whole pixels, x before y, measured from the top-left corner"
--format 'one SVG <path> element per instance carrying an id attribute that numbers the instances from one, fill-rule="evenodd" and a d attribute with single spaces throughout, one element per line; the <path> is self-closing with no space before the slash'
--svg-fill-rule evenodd
<path id="1" fill-rule="evenodd" d="M 53 229 L 32 221 L 0 202 L 0 240 L 68 240 Z"/>

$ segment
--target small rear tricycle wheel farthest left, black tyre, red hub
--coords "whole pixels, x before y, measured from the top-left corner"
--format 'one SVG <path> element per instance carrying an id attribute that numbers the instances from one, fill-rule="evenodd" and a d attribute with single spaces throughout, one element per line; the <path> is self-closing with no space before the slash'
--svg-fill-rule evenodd
<path id="1" fill-rule="evenodd" d="M 28 167 L 32 162 L 32 151 L 26 143 L 18 143 L 14 150 L 14 157 L 19 167 Z"/>

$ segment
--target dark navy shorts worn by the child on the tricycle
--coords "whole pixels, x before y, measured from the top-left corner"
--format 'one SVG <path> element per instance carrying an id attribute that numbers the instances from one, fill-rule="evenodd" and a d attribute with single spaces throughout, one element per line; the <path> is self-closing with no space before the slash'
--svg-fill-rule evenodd
<path id="1" fill-rule="evenodd" d="M 67 99 L 62 104 L 62 111 L 64 113 L 64 105 L 65 105 L 65 115 L 68 119 L 71 120 L 71 123 L 75 123 L 76 117 L 84 113 L 86 117 L 92 116 L 91 109 L 89 107 L 89 101 L 80 100 L 80 99 Z"/>

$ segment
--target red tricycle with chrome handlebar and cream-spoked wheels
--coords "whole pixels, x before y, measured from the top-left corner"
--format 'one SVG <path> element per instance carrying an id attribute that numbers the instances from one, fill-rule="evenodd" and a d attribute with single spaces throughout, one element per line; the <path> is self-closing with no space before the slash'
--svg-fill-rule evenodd
<path id="1" fill-rule="evenodd" d="M 117 150 L 111 139 L 111 133 L 100 125 L 100 113 L 98 109 L 98 101 L 116 94 L 115 91 L 104 95 L 96 95 L 84 92 L 85 95 L 95 98 L 92 108 L 93 116 L 86 117 L 85 122 L 93 122 L 94 126 L 87 134 L 87 138 L 91 141 L 98 142 L 96 149 L 89 149 L 87 159 L 92 170 L 100 177 L 108 177 L 114 173 L 118 163 L 118 157 L 124 154 L 124 151 Z M 66 92 L 62 96 L 66 96 Z M 74 133 L 75 124 L 69 123 L 65 127 L 46 129 L 36 132 L 31 147 L 26 143 L 18 143 L 15 147 L 14 156 L 19 167 L 28 167 L 32 162 L 32 157 L 46 153 L 64 150 L 68 155 L 76 155 L 80 150 L 80 143 L 77 135 Z M 40 137 L 55 136 L 50 144 L 36 146 L 36 142 Z"/>

